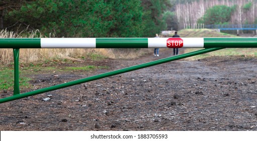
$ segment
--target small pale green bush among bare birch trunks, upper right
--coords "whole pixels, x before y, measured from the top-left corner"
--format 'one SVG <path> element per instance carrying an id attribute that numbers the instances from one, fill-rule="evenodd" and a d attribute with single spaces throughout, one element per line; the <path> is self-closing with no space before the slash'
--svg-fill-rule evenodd
<path id="1" fill-rule="evenodd" d="M 232 11 L 233 9 L 227 6 L 214 6 L 208 9 L 203 19 L 199 19 L 198 22 L 206 25 L 223 24 L 230 21 Z"/>

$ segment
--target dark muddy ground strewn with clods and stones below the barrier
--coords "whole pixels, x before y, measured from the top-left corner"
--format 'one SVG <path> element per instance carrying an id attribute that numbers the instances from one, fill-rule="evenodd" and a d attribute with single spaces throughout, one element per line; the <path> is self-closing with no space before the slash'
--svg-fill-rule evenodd
<path id="1" fill-rule="evenodd" d="M 109 69 L 32 74 L 30 83 L 45 88 L 172 54 L 83 61 L 74 65 Z M 256 73 L 257 58 L 242 56 L 159 64 L 3 103 L 0 130 L 257 130 Z"/>

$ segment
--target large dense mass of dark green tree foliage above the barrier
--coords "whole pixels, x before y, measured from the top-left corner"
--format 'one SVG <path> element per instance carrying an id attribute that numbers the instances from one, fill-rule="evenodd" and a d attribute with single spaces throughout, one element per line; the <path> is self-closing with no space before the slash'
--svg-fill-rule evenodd
<path id="1" fill-rule="evenodd" d="M 18 3 L 18 2 L 16 2 Z M 18 29 L 39 29 L 55 37 L 149 37 L 165 29 L 168 0 L 26 1 L 5 16 Z"/>

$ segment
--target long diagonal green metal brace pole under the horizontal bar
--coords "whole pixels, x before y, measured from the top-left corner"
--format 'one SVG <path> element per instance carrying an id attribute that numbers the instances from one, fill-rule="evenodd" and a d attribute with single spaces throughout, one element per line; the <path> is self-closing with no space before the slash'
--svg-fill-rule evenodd
<path id="1" fill-rule="evenodd" d="M 141 68 L 145 68 L 145 67 L 149 67 L 149 66 L 169 62 L 169 61 L 179 60 L 179 59 L 183 59 L 183 58 L 187 58 L 187 57 L 191 57 L 191 56 L 195 56 L 195 55 L 199 55 L 199 54 L 203 54 L 203 53 L 207 53 L 207 52 L 211 52 L 211 51 L 215 51 L 215 50 L 219 50 L 219 49 L 223 49 L 223 48 L 222 47 L 207 48 L 207 49 L 202 49 L 202 50 L 197 50 L 197 51 L 194 51 L 194 52 L 189 52 L 189 53 L 185 53 L 185 54 L 181 54 L 181 55 L 177 55 L 177 56 L 167 57 L 167 58 L 163 58 L 163 59 L 159 59 L 159 60 L 155 60 L 155 61 L 151 61 L 151 62 L 139 64 L 139 65 L 134 65 L 134 66 L 114 70 L 112 72 L 100 74 L 100 75 L 97 75 L 97 76 L 92 76 L 92 77 L 89 77 L 89 78 L 75 80 L 75 81 L 71 81 L 71 82 L 68 82 L 68 83 L 59 84 L 59 85 L 51 86 L 51 87 L 48 87 L 48 88 L 43 88 L 43 89 L 35 90 L 35 91 L 32 91 L 32 92 L 27 92 L 27 93 L 24 93 L 24 94 L 20 94 L 20 95 L 15 95 L 15 96 L 12 96 L 12 97 L 3 98 L 3 99 L 0 99 L 0 103 L 13 101 L 13 100 L 17 100 L 17 99 L 21 99 L 21 98 L 25 98 L 25 97 L 29 97 L 29 96 L 33 96 L 33 95 L 37 95 L 37 94 L 41 94 L 41 93 L 45 93 L 45 92 L 49 92 L 49 91 L 53 91 L 53 90 L 57 90 L 57 89 L 77 85 L 77 84 L 81 84 L 81 83 L 85 83 L 85 82 L 90 82 L 90 81 L 102 79 L 102 78 L 107 78 L 107 77 L 110 77 L 110 76 L 115 76 L 115 75 L 131 72 L 133 70 L 137 70 L 137 69 L 141 69 Z"/>

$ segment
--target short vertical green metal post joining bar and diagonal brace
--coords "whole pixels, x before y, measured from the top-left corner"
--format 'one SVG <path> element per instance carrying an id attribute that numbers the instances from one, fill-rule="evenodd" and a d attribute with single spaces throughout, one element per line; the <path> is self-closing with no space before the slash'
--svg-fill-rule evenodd
<path id="1" fill-rule="evenodd" d="M 20 94 L 19 85 L 19 54 L 20 48 L 14 48 L 14 95 Z"/>

